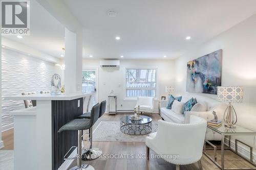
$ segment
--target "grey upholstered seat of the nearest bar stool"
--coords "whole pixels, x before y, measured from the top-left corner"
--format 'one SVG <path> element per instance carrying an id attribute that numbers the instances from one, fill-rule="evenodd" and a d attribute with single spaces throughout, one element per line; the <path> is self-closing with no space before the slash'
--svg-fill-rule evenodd
<path id="1" fill-rule="evenodd" d="M 91 120 L 88 118 L 76 118 L 71 120 L 69 123 L 63 125 L 58 132 L 69 131 L 69 130 L 86 130 L 91 128 Z"/>

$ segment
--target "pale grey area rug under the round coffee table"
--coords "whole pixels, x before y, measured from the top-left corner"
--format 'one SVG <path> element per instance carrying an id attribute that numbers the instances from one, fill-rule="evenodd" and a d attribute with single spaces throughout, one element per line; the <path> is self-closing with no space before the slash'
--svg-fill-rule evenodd
<path id="1" fill-rule="evenodd" d="M 112 121 L 102 121 L 93 131 L 93 141 L 98 142 L 145 142 L 147 135 L 126 135 L 120 131 L 120 123 Z M 157 131 L 157 122 L 152 122 L 152 132 Z"/>

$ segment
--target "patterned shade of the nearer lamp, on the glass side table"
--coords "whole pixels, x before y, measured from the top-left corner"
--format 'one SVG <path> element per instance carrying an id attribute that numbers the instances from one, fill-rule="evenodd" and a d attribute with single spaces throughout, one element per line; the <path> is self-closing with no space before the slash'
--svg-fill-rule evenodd
<path id="1" fill-rule="evenodd" d="M 243 102 L 244 87 L 218 86 L 217 100 L 229 103 Z"/>

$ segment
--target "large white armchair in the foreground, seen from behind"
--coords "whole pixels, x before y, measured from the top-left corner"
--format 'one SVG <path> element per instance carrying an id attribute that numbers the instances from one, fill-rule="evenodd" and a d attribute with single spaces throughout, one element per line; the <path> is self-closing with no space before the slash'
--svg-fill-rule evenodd
<path id="1" fill-rule="evenodd" d="M 146 155 L 150 149 L 167 162 L 179 165 L 199 163 L 200 169 L 206 133 L 206 120 L 192 115 L 189 124 L 158 120 L 158 131 L 146 137 Z M 179 158 L 177 157 L 179 156 Z"/>

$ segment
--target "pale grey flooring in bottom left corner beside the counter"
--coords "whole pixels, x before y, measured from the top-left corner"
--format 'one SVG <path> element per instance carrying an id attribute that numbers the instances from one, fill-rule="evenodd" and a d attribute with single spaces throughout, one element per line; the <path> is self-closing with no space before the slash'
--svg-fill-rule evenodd
<path id="1" fill-rule="evenodd" d="M 13 170 L 13 160 L 13 151 L 0 150 L 0 170 Z"/>

